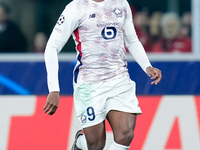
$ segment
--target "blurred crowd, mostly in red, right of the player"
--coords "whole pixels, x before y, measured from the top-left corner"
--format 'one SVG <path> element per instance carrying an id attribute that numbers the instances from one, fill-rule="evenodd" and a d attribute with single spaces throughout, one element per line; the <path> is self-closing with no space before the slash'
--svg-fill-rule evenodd
<path id="1" fill-rule="evenodd" d="M 133 13 L 139 40 L 146 52 L 191 52 L 191 13 Z"/>

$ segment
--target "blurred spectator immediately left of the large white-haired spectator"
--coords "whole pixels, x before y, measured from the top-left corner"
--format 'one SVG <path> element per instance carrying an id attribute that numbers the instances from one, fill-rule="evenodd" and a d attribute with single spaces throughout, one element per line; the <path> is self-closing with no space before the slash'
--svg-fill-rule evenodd
<path id="1" fill-rule="evenodd" d="M 160 20 L 161 12 L 154 12 L 149 19 L 149 35 L 151 46 L 161 38 Z"/>

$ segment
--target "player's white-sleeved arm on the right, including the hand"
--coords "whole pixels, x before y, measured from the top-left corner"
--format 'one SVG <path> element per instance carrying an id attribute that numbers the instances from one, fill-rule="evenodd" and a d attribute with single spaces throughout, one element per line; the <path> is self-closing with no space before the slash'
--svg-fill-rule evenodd
<path id="1" fill-rule="evenodd" d="M 148 76 L 151 77 L 151 84 L 157 85 L 162 79 L 161 71 L 157 68 L 152 67 L 144 47 L 139 41 L 135 28 L 133 25 L 132 13 L 130 10 L 130 6 L 127 3 L 127 16 L 124 23 L 124 40 L 125 45 L 128 48 L 129 52 L 134 57 L 135 61 L 140 65 L 140 67 L 146 72 Z"/>

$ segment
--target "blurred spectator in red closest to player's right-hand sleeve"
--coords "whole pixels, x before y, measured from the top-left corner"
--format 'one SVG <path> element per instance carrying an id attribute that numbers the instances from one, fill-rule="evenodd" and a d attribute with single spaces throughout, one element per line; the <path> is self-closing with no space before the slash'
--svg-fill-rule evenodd
<path id="1" fill-rule="evenodd" d="M 133 17 L 133 22 L 135 25 L 135 30 L 137 33 L 137 36 L 142 43 L 144 49 L 146 52 L 150 51 L 150 39 L 148 35 L 148 15 L 147 12 L 141 11 L 136 12 Z"/>

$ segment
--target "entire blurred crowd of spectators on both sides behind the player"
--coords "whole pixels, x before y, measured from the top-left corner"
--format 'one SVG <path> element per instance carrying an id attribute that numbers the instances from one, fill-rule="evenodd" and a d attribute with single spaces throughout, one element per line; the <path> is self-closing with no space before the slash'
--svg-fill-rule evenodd
<path id="1" fill-rule="evenodd" d="M 146 52 L 191 52 L 191 13 L 136 11 L 131 6 L 133 22 Z M 20 27 L 10 18 L 10 8 L 0 2 L 0 52 L 44 52 L 48 36 L 38 31 L 29 46 Z"/>

